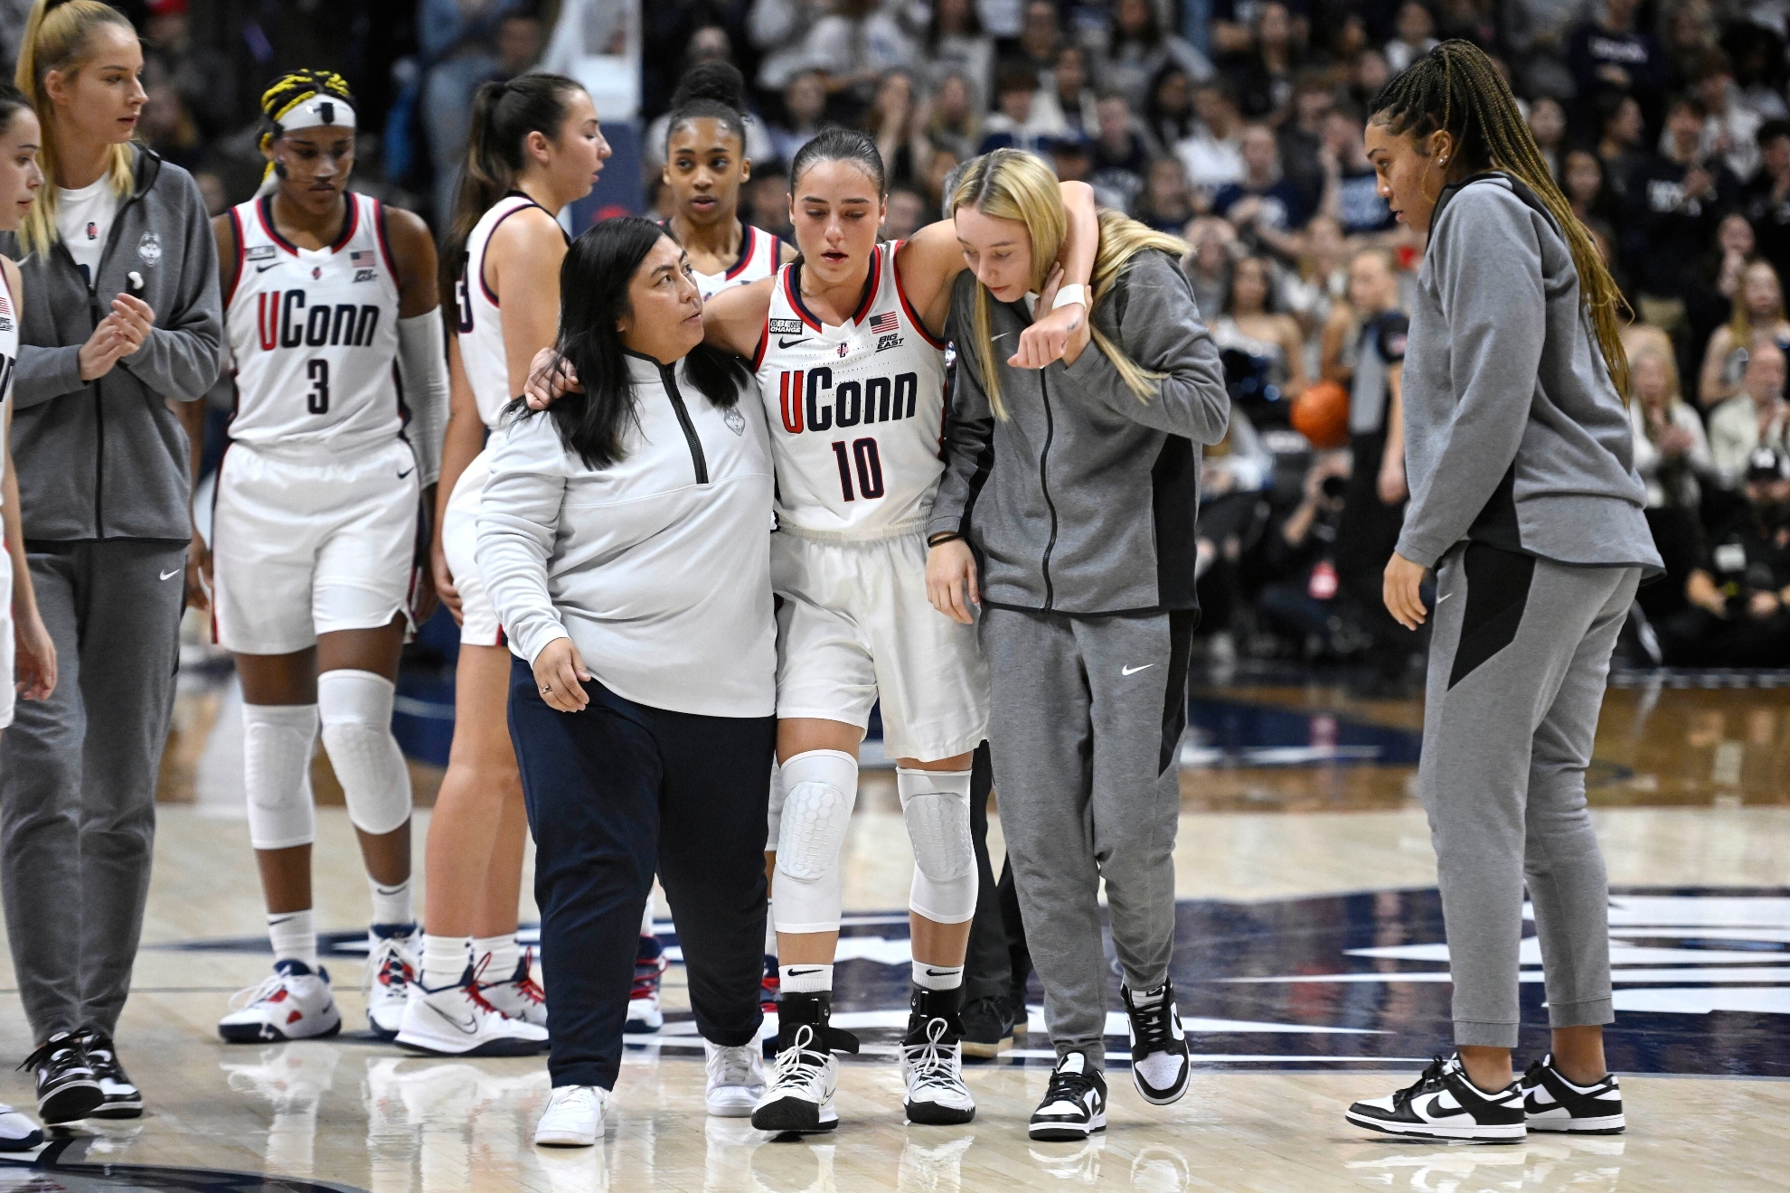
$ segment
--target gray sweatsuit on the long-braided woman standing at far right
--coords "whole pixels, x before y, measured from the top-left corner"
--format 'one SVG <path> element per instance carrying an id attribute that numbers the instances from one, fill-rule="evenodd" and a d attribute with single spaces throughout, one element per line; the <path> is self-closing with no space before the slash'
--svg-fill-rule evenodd
<path id="1" fill-rule="evenodd" d="M 1572 252 L 1522 182 L 1443 191 L 1405 354 L 1411 506 L 1436 569 L 1418 791 L 1457 1045 L 1518 1037 L 1523 887 L 1554 1027 L 1611 1021 L 1609 887 L 1584 769 L 1616 633 L 1659 553 Z"/>

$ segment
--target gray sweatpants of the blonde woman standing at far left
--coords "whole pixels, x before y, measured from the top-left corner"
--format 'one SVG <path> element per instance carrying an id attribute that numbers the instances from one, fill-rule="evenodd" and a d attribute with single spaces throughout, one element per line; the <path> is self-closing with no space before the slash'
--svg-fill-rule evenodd
<path id="1" fill-rule="evenodd" d="M 32 544 L 38 547 L 39 544 Z M 186 544 L 29 553 L 55 692 L 0 733 L 0 894 L 38 1041 L 111 1034 L 131 989 L 174 710 Z"/>

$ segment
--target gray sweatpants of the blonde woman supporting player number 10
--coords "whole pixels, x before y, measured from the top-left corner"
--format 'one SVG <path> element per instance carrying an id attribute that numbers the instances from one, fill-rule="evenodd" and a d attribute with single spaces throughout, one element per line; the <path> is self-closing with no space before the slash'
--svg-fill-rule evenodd
<path id="1" fill-rule="evenodd" d="M 1026 943 L 1058 1055 L 1104 1064 L 1113 952 L 1131 989 L 1174 948 L 1176 751 L 1198 613 L 1063 617 L 984 608 L 988 746 Z"/>

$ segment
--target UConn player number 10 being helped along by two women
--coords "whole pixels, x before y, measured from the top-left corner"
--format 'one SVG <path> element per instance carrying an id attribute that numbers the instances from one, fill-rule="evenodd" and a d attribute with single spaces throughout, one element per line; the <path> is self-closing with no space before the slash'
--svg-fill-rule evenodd
<path id="1" fill-rule="evenodd" d="M 857 1048 L 831 1025 L 840 866 L 857 748 L 879 699 L 915 850 L 904 1109 L 915 1123 L 963 1123 L 976 1114 L 959 1020 L 976 912 L 970 751 L 986 735 L 988 676 L 970 628 L 927 603 L 922 524 L 943 470 L 940 336 L 965 263 L 949 222 L 877 243 L 882 159 L 861 132 L 822 132 L 797 154 L 789 179 L 802 256 L 703 308 L 709 342 L 748 358 L 757 374 L 779 492 L 771 581 L 782 597 L 777 760 L 786 794 L 771 912 L 782 994 L 775 1075 L 752 1123 L 838 1127 L 832 1050 Z M 1094 193 L 1067 182 L 1063 202 L 1063 274 L 1085 286 L 1099 240 Z M 1011 345 L 1015 363 L 1042 368 L 1070 336 L 1087 334 L 1085 290 L 1056 293 L 1058 309 L 1053 295 L 1040 299 L 1047 315 Z M 551 386 L 542 379 L 530 390 L 541 401 Z"/>

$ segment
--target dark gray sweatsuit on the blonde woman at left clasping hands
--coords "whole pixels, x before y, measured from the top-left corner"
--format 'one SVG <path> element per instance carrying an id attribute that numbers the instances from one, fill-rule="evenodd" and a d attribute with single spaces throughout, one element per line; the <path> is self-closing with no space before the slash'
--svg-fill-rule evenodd
<path id="1" fill-rule="evenodd" d="M 131 989 L 192 537 L 186 433 L 168 401 L 204 397 L 224 342 L 199 186 L 141 147 L 132 173 L 91 290 L 61 243 L 20 261 L 13 458 L 59 680 L 0 735 L 0 894 L 39 1041 L 109 1034 Z M 11 234 L 0 252 L 20 256 Z M 81 345 L 132 272 L 156 326 L 82 381 Z"/>

